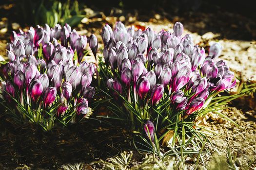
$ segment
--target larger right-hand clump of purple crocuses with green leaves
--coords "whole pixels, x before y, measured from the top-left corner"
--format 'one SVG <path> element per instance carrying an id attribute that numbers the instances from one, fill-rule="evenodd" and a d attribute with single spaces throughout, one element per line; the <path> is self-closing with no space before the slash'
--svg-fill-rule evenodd
<path id="1" fill-rule="evenodd" d="M 99 67 L 107 87 L 104 91 L 114 96 L 109 108 L 131 130 L 142 134 L 145 130 L 153 144 L 157 134 L 163 135 L 159 140 L 171 131 L 174 138 L 178 136 L 184 121 L 192 127 L 220 91 L 236 84 L 234 73 L 218 58 L 219 43 L 206 55 L 190 34 L 182 34 L 179 22 L 173 33 L 125 28 L 121 22 L 114 31 L 108 24 L 102 29 L 106 65 Z"/>

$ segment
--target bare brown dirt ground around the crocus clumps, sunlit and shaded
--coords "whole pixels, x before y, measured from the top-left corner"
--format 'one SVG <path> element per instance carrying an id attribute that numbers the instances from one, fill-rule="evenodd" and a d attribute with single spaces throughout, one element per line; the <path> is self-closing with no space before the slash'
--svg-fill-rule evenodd
<path id="1" fill-rule="evenodd" d="M 154 14 L 153 17 L 147 17 L 133 15 L 133 11 L 116 14 L 117 10 L 114 10 L 112 16 L 105 16 L 104 13 L 89 8 L 85 10 L 91 14 L 91 17 L 84 18 L 79 24 L 79 34 L 94 33 L 100 41 L 102 26 L 105 23 L 114 25 L 118 20 L 123 21 L 127 26 L 151 26 L 156 32 L 162 29 L 172 32 L 173 24 L 176 21 L 183 22 L 185 33 L 192 34 L 195 43 L 200 46 L 207 49 L 213 41 L 221 43 L 223 52 L 220 58 L 227 60 L 238 79 L 245 83 L 256 82 L 256 41 L 253 40 L 256 37 L 256 32 L 253 19 L 228 12 L 226 12 L 227 18 L 224 21 L 223 18 L 222 20 L 218 18 L 219 13 L 216 16 L 200 14 L 200 17 L 197 12 L 181 17 L 168 14 Z M 197 17 L 195 18 L 195 16 Z M 240 22 L 236 23 L 234 21 L 236 19 L 239 19 Z M 243 22 L 246 22 L 247 26 Z M 6 30 L 5 27 L 7 23 L 8 19 L 2 18 L 0 22 L 0 60 L 1 57 L 5 58 L 5 44 L 9 41 L 10 30 Z M 219 28 L 214 29 L 216 25 Z M 15 25 L 13 28 L 16 28 Z M 99 48 L 102 48 L 102 44 L 99 45 Z M 231 153 L 237 156 L 236 165 L 238 167 L 246 165 L 256 159 L 256 99 L 240 98 L 230 103 L 229 109 L 223 110 L 222 113 L 239 126 L 214 114 L 207 115 L 204 125 L 216 132 L 215 137 L 210 137 L 215 147 L 208 147 L 212 154 L 219 153 L 220 155 L 226 154 L 227 147 L 229 147 Z M 0 169 L 1 166 L 23 165 L 52 169 L 66 163 L 83 162 L 87 164 L 96 158 L 107 160 L 123 150 L 131 150 L 129 135 L 120 128 L 107 128 L 104 125 L 91 126 L 84 122 L 81 125 L 72 125 L 69 129 L 56 128 L 52 133 L 45 133 L 34 130 L 32 125 L 26 124 L 17 127 L 2 115 L 0 122 Z M 89 129 L 93 130 L 89 131 Z M 139 163 L 142 156 L 137 153 L 134 154 L 133 159 L 134 162 Z M 205 159 L 207 164 L 211 161 L 212 156 L 206 155 Z M 188 169 L 195 169 L 195 166 L 188 165 Z M 256 169 L 256 162 L 252 164 L 251 169 Z"/>

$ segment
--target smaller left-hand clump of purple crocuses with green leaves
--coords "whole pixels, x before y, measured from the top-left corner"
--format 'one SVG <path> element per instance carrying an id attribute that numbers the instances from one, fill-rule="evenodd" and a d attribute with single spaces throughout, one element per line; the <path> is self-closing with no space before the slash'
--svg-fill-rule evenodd
<path id="1" fill-rule="evenodd" d="M 12 111 L 15 106 L 21 117 L 39 122 L 45 130 L 56 120 L 66 124 L 76 115 L 88 115 L 96 66 L 83 61 L 86 45 L 86 36 L 72 31 L 68 24 L 13 32 L 7 45 L 9 63 L 3 68 L 6 108 Z M 89 46 L 96 56 L 94 34 Z"/>

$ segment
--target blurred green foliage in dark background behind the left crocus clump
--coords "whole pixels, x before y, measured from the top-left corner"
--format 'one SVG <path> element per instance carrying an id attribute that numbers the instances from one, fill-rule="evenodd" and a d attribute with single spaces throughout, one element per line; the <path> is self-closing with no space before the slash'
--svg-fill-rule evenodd
<path id="1" fill-rule="evenodd" d="M 84 18 L 77 0 L 19 0 L 16 4 L 18 17 L 27 24 L 54 27 L 57 23 L 77 26 Z"/>

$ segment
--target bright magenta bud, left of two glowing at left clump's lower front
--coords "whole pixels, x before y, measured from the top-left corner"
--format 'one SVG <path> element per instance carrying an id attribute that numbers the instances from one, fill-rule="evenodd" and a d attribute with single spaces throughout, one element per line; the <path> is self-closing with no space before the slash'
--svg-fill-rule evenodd
<path id="1" fill-rule="evenodd" d="M 43 86 L 38 79 L 34 79 L 30 85 L 30 95 L 34 102 L 38 101 L 39 96 L 43 92 Z"/>

